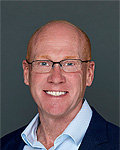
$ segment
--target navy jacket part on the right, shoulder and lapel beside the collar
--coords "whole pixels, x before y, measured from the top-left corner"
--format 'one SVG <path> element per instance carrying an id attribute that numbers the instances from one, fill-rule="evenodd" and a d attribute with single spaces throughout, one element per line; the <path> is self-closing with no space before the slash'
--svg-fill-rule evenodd
<path id="1" fill-rule="evenodd" d="M 92 118 L 80 149 L 118 150 L 120 128 L 106 121 L 93 107 L 91 109 Z"/>

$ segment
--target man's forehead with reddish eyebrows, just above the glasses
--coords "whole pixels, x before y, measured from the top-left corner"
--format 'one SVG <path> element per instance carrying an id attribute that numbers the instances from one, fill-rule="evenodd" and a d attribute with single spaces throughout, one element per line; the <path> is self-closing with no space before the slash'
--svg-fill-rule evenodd
<path id="1" fill-rule="evenodd" d="M 54 61 L 79 58 L 79 46 L 71 40 L 46 39 L 34 45 L 33 59 L 47 58 Z"/>

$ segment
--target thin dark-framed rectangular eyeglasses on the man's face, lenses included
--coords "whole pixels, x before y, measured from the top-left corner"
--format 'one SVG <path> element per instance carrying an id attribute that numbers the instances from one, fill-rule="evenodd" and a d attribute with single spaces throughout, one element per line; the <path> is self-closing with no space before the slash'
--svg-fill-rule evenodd
<path id="1" fill-rule="evenodd" d="M 48 73 L 54 68 L 55 64 L 59 64 L 60 68 L 65 72 L 77 72 L 82 68 L 82 63 L 87 63 L 91 60 L 82 61 L 81 59 L 65 59 L 60 62 L 53 62 L 51 60 L 34 60 L 28 64 L 32 65 L 32 70 L 37 73 Z"/>

